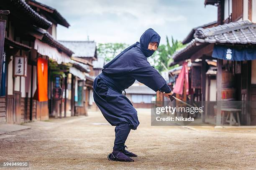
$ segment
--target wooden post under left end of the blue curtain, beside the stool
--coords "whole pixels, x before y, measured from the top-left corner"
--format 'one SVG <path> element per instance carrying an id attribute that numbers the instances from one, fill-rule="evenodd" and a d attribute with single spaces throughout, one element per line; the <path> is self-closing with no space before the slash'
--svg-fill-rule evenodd
<path id="1" fill-rule="evenodd" d="M 216 125 L 221 125 L 221 84 L 222 84 L 222 64 L 223 60 L 217 61 L 217 114 Z"/>

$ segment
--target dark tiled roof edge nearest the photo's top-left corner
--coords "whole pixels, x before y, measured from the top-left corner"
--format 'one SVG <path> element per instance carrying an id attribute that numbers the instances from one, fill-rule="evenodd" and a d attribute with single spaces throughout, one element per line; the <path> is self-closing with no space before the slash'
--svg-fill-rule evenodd
<path id="1" fill-rule="evenodd" d="M 21 20 L 27 20 L 28 23 L 38 27 L 48 29 L 52 23 L 34 11 L 25 0 L 2 0 L 1 7 L 10 10 L 10 14 L 15 14 L 15 17 Z"/>

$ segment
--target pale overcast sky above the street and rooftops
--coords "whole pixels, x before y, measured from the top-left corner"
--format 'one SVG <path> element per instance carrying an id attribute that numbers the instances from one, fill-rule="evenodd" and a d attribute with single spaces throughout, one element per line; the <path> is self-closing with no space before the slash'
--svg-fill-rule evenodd
<path id="1" fill-rule="evenodd" d="M 153 28 L 166 44 L 166 35 L 183 40 L 192 28 L 217 20 L 217 7 L 204 0 L 37 0 L 61 13 L 71 25 L 57 27 L 58 40 L 97 43 L 139 41 Z"/>

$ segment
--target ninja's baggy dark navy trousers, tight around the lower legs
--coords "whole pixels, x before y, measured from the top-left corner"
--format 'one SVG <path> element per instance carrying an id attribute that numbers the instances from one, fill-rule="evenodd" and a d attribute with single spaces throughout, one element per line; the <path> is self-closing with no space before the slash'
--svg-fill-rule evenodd
<path id="1" fill-rule="evenodd" d="M 114 150 L 122 150 L 131 131 L 139 125 L 137 111 L 131 101 L 96 77 L 93 84 L 93 98 L 105 119 L 115 127 Z"/>

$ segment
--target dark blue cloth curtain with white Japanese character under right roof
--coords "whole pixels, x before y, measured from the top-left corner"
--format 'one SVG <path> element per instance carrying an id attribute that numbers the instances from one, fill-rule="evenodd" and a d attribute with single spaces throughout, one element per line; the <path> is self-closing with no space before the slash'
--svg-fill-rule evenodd
<path id="1" fill-rule="evenodd" d="M 212 57 L 232 61 L 256 60 L 256 47 L 214 45 Z"/>

